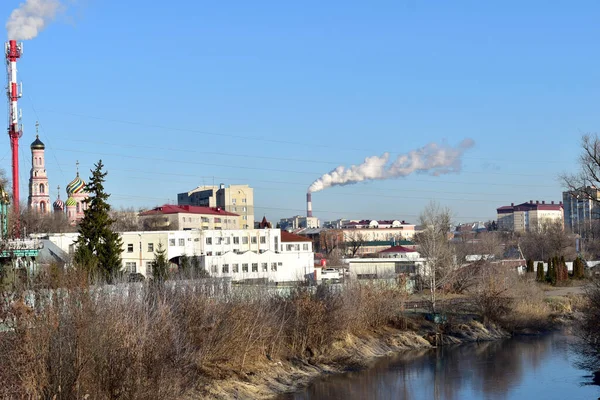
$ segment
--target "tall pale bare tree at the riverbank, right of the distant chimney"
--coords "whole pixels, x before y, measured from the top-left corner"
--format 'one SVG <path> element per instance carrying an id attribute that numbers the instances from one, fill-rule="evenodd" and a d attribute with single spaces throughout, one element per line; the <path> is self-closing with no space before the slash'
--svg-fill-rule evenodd
<path id="1" fill-rule="evenodd" d="M 423 279 L 429 289 L 431 311 L 436 312 L 437 291 L 452 283 L 456 265 L 448 240 L 452 227 L 451 213 L 431 202 L 419 216 L 422 231 L 415 236 L 421 256 L 426 259 Z"/>

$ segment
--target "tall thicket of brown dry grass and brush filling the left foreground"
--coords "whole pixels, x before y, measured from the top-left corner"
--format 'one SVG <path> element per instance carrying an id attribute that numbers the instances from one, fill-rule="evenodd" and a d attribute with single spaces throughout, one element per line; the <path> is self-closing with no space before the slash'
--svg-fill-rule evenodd
<path id="1" fill-rule="evenodd" d="M 177 398 L 270 360 L 324 360 L 336 340 L 403 321 L 406 296 L 396 287 L 278 296 L 207 290 L 207 282 L 117 290 L 67 279 L 26 292 L 35 306 L 5 301 L 0 318 L 12 330 L 0 340 L 0 397 Z"/>

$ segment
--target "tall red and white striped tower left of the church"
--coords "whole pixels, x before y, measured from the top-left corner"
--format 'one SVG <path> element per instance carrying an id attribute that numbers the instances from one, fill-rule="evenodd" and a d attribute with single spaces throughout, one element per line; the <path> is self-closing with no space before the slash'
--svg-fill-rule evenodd
<path id="1" fill-rule="evenodd" d="M 19 108 L 17 102 L 22 96 L 21 88 L 17 83 L 17 61 L 23 54 L 23 44 L 16 40 L 9 40 L 5 44 L 6 72 L 8 74 L 8 136 L 12 150 L 12 180 L 13 180 L 13 210 L 19 214 L 19 138 L 23 135 Z M 18 231 L 18 229 L 17 229 Z"/>

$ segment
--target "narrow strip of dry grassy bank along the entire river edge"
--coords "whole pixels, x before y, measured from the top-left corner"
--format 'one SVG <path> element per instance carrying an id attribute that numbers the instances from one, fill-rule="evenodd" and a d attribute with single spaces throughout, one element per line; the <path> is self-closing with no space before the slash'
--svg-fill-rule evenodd
<path id="1" fill-rule="evenodd" d="M 524 299 L 527 303 L 527 299 Z M 255 365 L 251 371 L 232 373 L 226 379 L 206 382 L 186 399 L 273 399 L 298 391 L 316 379 L 332 374 L 367 369 L 384 357 L 408 350 L 427 351 L 436 346 L 496 341 L 521 335 L 543 335 L 568 327 L 575 320 L 578 296 L 568 294 L 548 298 L 540 307 L 516 304 L 517 315 L 506 317 L 505 327 L 484 325 L 478 315 L 455 315 L 450 323 L 436 325 L 425 314 L 408 316 L 408 330 L 386 327 L 360 335 L 346 335 L 317 357 L 279 360 Z M 532 312 L 535 310 L 535 312 Z M 526 318 L 526 313 L 529 317 Z"/>

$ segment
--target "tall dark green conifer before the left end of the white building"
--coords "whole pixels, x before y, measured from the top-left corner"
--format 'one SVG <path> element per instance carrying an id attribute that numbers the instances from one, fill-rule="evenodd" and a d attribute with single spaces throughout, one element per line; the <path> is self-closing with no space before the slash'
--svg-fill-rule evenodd
<path id="1" fill-rule="evenodd" d="M 79 237 L 75 251 L 75 262 L 88 270 L 91 277 L 113 282 L 121 270 L 123 242 L 118 233 L 113 232 L 110 218 L 110 195 L 104 191 L 106 172 L 102 171 L 102 160 L 95 164 L 92 176 L 85 185 L 89 197 L 83 219 L 79 223 Z"/>

